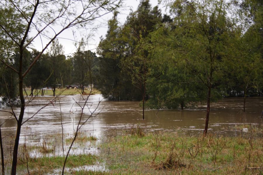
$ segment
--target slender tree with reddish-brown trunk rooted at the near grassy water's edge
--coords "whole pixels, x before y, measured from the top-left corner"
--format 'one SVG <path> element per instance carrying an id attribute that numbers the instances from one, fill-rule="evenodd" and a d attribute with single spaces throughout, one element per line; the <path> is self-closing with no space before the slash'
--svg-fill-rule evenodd
<path id="1" fill-rule="evenodd" d="M 207 88 L 207 113 L 204 135 L 207 134 L 210 101 L 222 76 L 224 59 L 231 59 L 231 39 L 237 19 L 228 17 L 231 3 L 224 1 L 174 1 L 175 30 L 171 31 L 182 62 Z M 214 90 L 213 90 L 214 89 Z"/>

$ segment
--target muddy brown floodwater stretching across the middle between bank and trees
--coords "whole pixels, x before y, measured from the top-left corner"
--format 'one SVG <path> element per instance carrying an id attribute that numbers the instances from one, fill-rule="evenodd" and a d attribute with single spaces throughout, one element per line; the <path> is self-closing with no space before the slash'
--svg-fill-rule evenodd
<path id="1" fill-rule="evenodd" d="M 25 109 L 24 119 L 30 118 L 41 107 L 50 102 L 52 96 L 35 97 Z M 195 108 L 184 110 L 146 110 L 145 118 L 142 120 L 142 108 L 139 101 L 106 101 L 101 95 L 92 95 L 88 100 L 89 108 L 84 108 L 83 119 L 90 115 L 98 101 L 99 104 L 95 114 L 83 126 L 82 130 L 98 137 L 110 137 L 128 130 L 132 125 L 140 123 L 146 126 L 147 131 L 158 129 L 173 130 L 182 134 L 202 133 L 205 124 L 206 106 L 199 104 Z M 81 109 L 75 101 L 83 100 L 79 95 L 65 96 L 60 99 L 60 106 L 63 116 L 64 131 L 70 133 L 76 128 Z M 263 97 L 251 97 L 247 99 L 246 112 L 243 113 L 243 98 L 224 98 L 212 103 L 210 110 L 209 131 L 216 134 L 236 136 L 240 131 L 235 129 L 236 125 L 252 124 L 262 127 L 263 120 L 261 112 L 263 109 Z M 90 109 L 90 111 L 89 111 Z M 11 111 L 9 107 L 1 107 L 1 110 Z M 16 115 L 19 115 L 19 108 L 14 108 Z M 26 135 L 32 134 L 30 142 L 37 142 L 42 135 L 61 132 L 59 102 L 53 103 L 39 111 L 34 118 L 26 122 L 22 127 L 21 142 Z M 16 121 L 10 118 L 10 114 L 0 112 L 2 135 L 14 136 Z M 146 124 L 145 124 L 146 123 Z"/>

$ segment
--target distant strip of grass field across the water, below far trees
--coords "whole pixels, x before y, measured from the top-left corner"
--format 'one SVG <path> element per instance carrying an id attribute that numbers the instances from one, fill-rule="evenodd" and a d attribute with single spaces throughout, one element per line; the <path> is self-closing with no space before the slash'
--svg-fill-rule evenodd
<path id="1" fill-rule="evenodd" d="M 86 94 L 89 94 L 90 90 L 84 89 L 84 92 Z M 26 95 L 26 94 L 30 95 L 30 93 L 31 93 L 31 90 L 26 90 L 26 92 L 24 91 L 24 95 Z M 41 90 L 34 90 L 33 91 L 33 95 L 37 95 L 37 94 L 41 95 Z M 76 90 L 74 90 L 74 89 L 65 89 L 65 88 L 63 88 L 63 89 L 57 88 L 56 89 L 56 95 L 79 95 L 79 94 L 81 94 L 81 90 L 80 89 L 76 89 Z M 101 92 L 99 90 L 93 89 L 92 90 L 92 94 L 101 94 Z M 53 91 L 51 89 L 45 90 L 44 95 L 45 96 L 46 95 L 53 95 Z"/>

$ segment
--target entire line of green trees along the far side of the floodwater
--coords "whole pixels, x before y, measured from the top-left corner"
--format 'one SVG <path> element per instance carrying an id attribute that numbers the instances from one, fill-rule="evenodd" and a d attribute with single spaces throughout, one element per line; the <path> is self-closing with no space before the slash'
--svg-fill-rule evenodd
<path id="1" fill-rule="evenodd" d="M 108 100 L 142 100 L 143 109 L 184 109 L 197 101 L 207 101 L 210 108 L 218 98 L 243 97 L 245 111 L 246 98 L 262 95 L 263 89 L 262 2 L 163 2 L 169 15 L 140 1 L 122 25 L 115 11 L 98 45 L 99 57 L 84 51 L 84 39 L 68 57 L 53 41 L 24 86 L 31 87 L 31 95 L 49 86 L 55 95 L 56 87 L 77 84 L 83 93 L 92 72 L 92 83 Z M 24 66 L 38 54 L 26 51 Z M 18 67 L 18 56 L 16 51 L 9 62 L 13 67 Z M 15 99 L 18 83 L 11 71 L 2 73 L 2 84 L 9 82 L 1 92 Z"/>

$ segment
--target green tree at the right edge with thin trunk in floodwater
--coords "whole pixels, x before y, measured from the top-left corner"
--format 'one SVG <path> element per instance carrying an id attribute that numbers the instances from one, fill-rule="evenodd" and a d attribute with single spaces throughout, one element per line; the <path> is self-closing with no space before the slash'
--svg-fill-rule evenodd
<path id="1" fill-rule="evenodd" d="M 262 35 L 255 32 L 252 26 L 245 34 L 242 35 L 240 32 L 232 41 L 233 60 L 225 60 L 229 81 L 227 87 L 243 96 L 245 112 L 247 97 L 258 95 L 262 88 Z"/>

